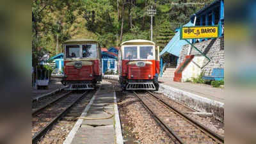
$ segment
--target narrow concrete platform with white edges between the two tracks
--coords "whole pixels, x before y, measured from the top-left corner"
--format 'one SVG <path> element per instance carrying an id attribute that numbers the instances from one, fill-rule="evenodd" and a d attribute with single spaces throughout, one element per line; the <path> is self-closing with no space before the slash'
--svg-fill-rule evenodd
<path id="1" fill-rule="evenodd" d="M 102 84 L 68 134 L 64 144 L 122 144 L 122 130 L 113 85 Z"/>

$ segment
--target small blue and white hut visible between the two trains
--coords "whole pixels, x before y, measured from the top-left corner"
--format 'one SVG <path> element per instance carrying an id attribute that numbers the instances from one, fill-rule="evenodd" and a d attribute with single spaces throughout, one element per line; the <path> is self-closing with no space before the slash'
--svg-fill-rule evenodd
<path id="1" fill-rule="evenodd" d="M 117 72 L 118 49 L 110 47 L 108 51 L 102 51 L 102 74 L 106 72 Z M 109 73 L 108 73 L 109 74 Z"/>

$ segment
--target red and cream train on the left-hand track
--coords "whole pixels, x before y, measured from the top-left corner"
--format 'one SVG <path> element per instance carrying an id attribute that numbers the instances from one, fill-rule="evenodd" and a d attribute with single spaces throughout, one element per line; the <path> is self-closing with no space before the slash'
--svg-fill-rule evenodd
<path id="1" fill-rule="evenodd" d="M 64 44 L 64 77 L 68 90 L 90 90 L 102 80 L 99 43 L 90 39 L 68 40 Z"/>

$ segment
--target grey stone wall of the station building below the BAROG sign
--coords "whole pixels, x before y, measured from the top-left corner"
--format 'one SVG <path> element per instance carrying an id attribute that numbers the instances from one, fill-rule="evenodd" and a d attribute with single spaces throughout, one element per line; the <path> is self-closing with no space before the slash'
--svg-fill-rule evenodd
<path id="1" fill-rule="evenodd" d="M 221 36 L 220 38 L 214 38 L 210 40 L 206 40 L 204 42 L 199 42 L 194 44 L 196 48 L 198 48 L 200 51 L 202 51 L 206 56 L 208 56 L 211 61 L 210 63 L 207 63 L 208 60 L 205 58 L 204 65 L 205 67 L 202 68 L 202 70 L 205 72 L 205 76 L 211 76 L 211 72 L 213 68 L 224 68 L 225 63 L 225 52 L 224 52 L 224 37 Z M 189 44 L 184 45 L 182 47 L 182 50 L 180 51 L 180 57 L 178 61 L 177 67 L 179 67 L 179 64 L 182 63 L 185 56 L 188 54 Z M 191 54 L 194 54 L 195 56 L 202 56 L 198 51 L 196 51 L 195 48 L 191 48 Z"/>

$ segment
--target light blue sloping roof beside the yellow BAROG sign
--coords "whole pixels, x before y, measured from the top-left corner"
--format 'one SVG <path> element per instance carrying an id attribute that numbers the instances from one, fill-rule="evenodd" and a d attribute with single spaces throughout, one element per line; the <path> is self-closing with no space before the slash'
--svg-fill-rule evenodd
<path id="1" fill-rule="evenodd" d="M 188 22 L 188 24 L 185 24 L 184 26 L 193 26 L 193 24 Z M 188 44 L 188 42 L 185 40 L 180 40 L 180 31 L 177 31 L 172 40 L 170 40 L 170 42 L 168 42 L 168 44 L 164 47 L 163 51 L 160 52 L 160 56 L 164 56 L 167 54 L 167 52 L 175 56 L 179 56 L 182 46 L 186 44 Z"/>

